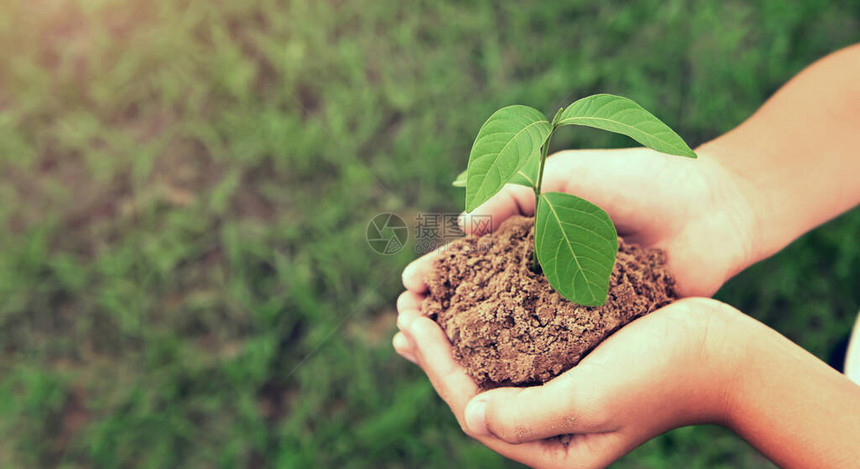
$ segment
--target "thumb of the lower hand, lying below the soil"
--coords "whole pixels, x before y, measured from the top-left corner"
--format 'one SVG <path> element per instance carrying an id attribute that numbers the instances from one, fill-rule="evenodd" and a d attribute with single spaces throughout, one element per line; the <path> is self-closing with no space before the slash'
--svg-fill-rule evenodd
<path id="1" fill-rule="evenodd" d="M 605 431 L 604 404 L 577 383 L 575 371 L 542 386 L 498 388 L 475 396 L 464 412 L 467 430 L 475 437 L 495 436 L 511 444 Z"/>

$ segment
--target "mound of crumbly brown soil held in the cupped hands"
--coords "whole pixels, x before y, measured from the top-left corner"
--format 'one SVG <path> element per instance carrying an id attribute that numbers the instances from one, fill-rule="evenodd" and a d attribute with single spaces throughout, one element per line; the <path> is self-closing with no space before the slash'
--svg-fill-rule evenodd
<path id="1" fill-rule="evenodd" d="M 533 220 L 446 246 L 427 278 L 424 313 L 481 388 L 540 384 L 576 365 L 603 339 L 676 298 L 666 254 L 619 238 L 609 298 L 571 303 L 531 271 Z"/>

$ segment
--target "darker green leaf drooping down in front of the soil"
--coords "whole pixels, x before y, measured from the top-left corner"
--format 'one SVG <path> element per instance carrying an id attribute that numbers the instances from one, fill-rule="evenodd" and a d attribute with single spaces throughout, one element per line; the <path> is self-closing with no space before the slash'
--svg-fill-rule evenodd
<path id="1" fill-rule="evenodd" d="M 561 192 L 541 194 L 535 249 L 546 279 L 562 296 L 585 306 L 606 302 L 618 237 L 600 207 Z"/>

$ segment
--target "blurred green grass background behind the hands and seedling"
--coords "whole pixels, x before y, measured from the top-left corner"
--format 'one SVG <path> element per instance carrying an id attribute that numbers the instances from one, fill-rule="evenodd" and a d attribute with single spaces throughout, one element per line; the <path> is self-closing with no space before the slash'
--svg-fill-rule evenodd
<path id="1" fill-rule="evenodd" d="M 373 253 L 370 218 L 460 210 L 500 106 L 618 93 L 699 144 L 860 40 L 857 1 L 0 10 L 0 467 L 516 467 L 393 353 L 414 249 Z M 719 296 L 826 359 L 858 233 L 854 210 Z M 767 465 L 699 427 L 617 466 Z"/>

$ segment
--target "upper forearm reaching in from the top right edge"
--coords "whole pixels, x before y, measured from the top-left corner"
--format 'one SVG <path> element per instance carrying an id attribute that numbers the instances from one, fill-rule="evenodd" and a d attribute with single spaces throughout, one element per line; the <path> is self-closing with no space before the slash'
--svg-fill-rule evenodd
<path id="1" fill-rule="evenodd" d="M 743 124 L 698 150 L 738 177 L 764 259 L 860 203 L 860 45 L 803 70 Z M 742 266 L 746 267 L 746 266 Z"/>

